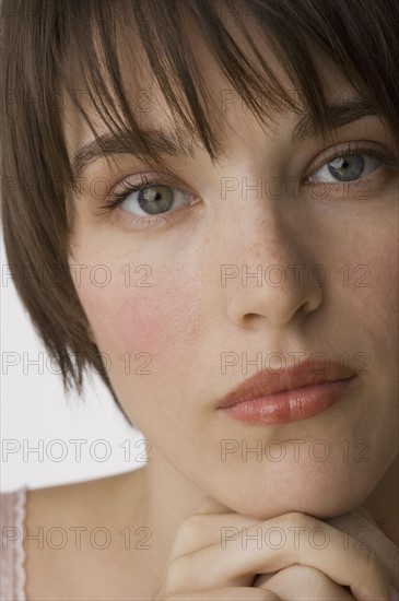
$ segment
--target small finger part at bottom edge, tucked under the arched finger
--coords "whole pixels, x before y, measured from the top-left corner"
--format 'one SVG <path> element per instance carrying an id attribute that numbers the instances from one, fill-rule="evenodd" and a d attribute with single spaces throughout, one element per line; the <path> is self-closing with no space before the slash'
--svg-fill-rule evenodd
<path id="1" fill-rule="evenodd" d="M 353 601 L 351 592 L 337 585 L 322 571 L 308 566 L 290 566 L 271 576 L 262 575 L 253 586 L 272 590 L 282 599 L 290 601 Z"/>

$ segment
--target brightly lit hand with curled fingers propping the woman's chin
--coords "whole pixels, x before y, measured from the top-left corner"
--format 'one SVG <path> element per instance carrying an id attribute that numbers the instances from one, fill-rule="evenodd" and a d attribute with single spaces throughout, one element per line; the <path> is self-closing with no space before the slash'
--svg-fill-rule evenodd
<path id="1" fill-rule="evenodd" d="M 286 534 L 283 545 L 274 544 L 271 547 L 270 544 L 263 544 L 263 534 L 270 528 L 274 528 L 274 531 L 280 529 Z M 308 535 L 310 531 L 317 533 L 320 530 L 328 535 L 325 549 L 315 547 Z M 297 544 L 295 532 L 305 533 L 300 539 L 301 544 Z M 259 533 L 260 545 L 254 540 Z M 343 544 L 343 541 L 340 530 L 305 514 L 291 512 L 261 521 L 232 512 L 207 497 L 198 512 L 185 519 L 178 528 L 154 601 L 286 601 L 295 597 L 286 594 L 292 585 L 284 585 L 283 571 L 290 569 L 291 575 L 294 575 L 298 567 L 303 569 L 302 576 L 304 569 L 307 570 L 307 586 L 313 574 L 313 582 L 321 591 L 321 597 L 313 597 L 317 601 L 388 601 L 389 576 L 374 551 L 355 549 L 357 541 L 351 535 L 347 537 L 348 544 Z M 260 587 L 257 586 L 258 581 L 254 586 L 259 574 L 272 577 Z M 286 575 L 285 571 L 285 580 L 289 580 Z M 275 588 L 278 578 L 279 591 Z M 286 591 L 281 588 L 284 586 Z"/>

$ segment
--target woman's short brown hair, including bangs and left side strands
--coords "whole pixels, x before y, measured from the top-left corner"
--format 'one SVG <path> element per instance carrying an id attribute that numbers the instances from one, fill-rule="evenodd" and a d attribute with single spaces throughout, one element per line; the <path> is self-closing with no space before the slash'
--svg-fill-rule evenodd
<path id="1" fill-rule="evenodd" d="M 245 17 L 248 12 L 250 20 Z M 148 157 L 162 164 L 140 131 L 121 80 L 120 27 L 133 27 L 176 118 L 176 131 L 180 128 L 199 140 L 214 160 L 220 148 L 187 17 L 232 90 L 261 122 L 270 107 L 300 107 L 262 59 L 247 25 L 263 32 L 316 131 L 326 131 L 328 103 L 314 50 L 332 60 L 361 96 L 367 96 L 399 146 L 397 0 L 3 0 L 0 142 L 9 266 L 38 334 L 60 367 L 66 392 L 73 387 L 82 392 L 83 374 L 90 367 L 99 373 L 119 409 L 98 349 L 90 340 L 67 260 L 66 200 L 75 180 L 58 91 L 61 86 L 72 97 L 73 70 L 92 106 L 112 133 L 126 142 L 127 151 L 133 133 Z M 228 23 L 240 28 L 255 58 L 249 60 L 237 46 Z M 268 98 L 267 106 L 260 97 Z M 72 101 L 96 135 L 77 95 Z"/>

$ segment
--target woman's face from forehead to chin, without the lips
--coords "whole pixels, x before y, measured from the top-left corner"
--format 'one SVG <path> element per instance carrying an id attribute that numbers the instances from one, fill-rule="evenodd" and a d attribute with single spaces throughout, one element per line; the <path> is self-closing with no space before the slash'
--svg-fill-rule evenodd
<path id="1" fill-rule="evenodd" d="M 265 57 L 291 90 L 268 48 Z M 121 405 L 180 474 L 248 516 L 341 514 L 398 452 L 398 170 L 369 154 L 392 140 L 376 116 L 336 129 L 331 144 L 293 141 L 289 110 L 270 113 L 263 130 L 210 60 L 207 68 L 220 162 L 187 139 L 193 156 L 164 156 L 176 178 L 129 154 L 90 163 L 73 199 L 77 291 Z M 331 103 L 354 96 L 331 66 L 320 61 L 320 72 Z M 173 135 L 171 111 L 148 83 L 141 125 Z M 71 156 L 93 140 L 71 109 L 66 131 Z M 345 170 L 338 161 L 330 172 L 356 142 Z M 309 182 L 316 174 L 325 184 Z M 106 191 L 142 177 L 163 187 L 101 212 Z M 150 213 L 156 191 L 161 205 Z M 216 409 L 260 368 L 315 353 L 357 373 L 328 410 L 248 424 Z"/>

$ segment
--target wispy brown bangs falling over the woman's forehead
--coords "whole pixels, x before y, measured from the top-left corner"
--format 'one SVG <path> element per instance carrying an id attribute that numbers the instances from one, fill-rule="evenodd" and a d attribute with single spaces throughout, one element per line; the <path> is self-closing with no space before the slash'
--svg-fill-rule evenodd
<path id="1" fill-rule="evenodd" d="M 368 2 L 366 5 L 361 0 L 352 3 L 340 0 L 331 3 L 85 0 L 64 3 L 62 9 L 61 4 L 55 3 L 52 8 L 63 61 L 63 68 L 58 70 L 59 80 L 101 148 L 87 104 L 127 153 L 136 140 L 152 165 L 166 169 L 160 149 L 145 135 L 138 119 L 140 109 L 145 110 L 145 95 L 149 95 L 149 90 L 142 90 L 140 83 L 145 63 L 146 78 L 150 72 L 174 118 L 177 142 L 187 145 L 185 140 L 196 141 L 212 161 L 218 160 L 222 150 L 218 126 L 223 115 L 207 89 L 207 73 L 201 70 L 192 31 L 212 56 L 231 93 L 249 108 L 262 127 L 272 120 L 272 111 L 305 111 L 318 135 L 328 138 L 327 99 L 313 59 L 315 55 L 337 64 L 357 94 L 366 98 L 376 113 L 382 113 L 388 123 L 398 126 L 394 107 L 398 78 L 391 76 L 398 72 L 395 64 L 398 52 L 392 49 L 398 46 L 398 39 L 395 31 L 390 39 L 386 22 L 384 35 L 383 23 L 378 28 L 378 17 L 384 17 L 378 5 Z M 240 32 L 247 51 L 237 45 L 232 28 Z M 282 86 L 265 61 L 254 42 L 255 31 L 272 49 L 292 82 L 291 91 Z M 373 55 L 384 60 L 371 64 Z M 128 78 L 124 73 L 128 73 Z M 129 91 L 127 79 L 134 82 L 136 92 Z M 84 94 L 77 94 L 77 87 Z M 81 96 L 85 102 L 81 102 Z M 51 120 L 50 115 L 44 118 Z M 108 160 L 106 149 L 104 156 Z M 64 170 L 72 175 L 73 182 L 70 165 L 64 165 Z"/>

